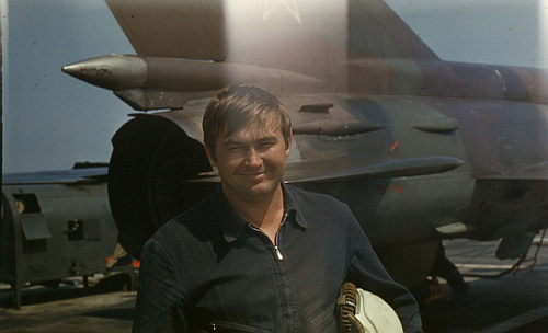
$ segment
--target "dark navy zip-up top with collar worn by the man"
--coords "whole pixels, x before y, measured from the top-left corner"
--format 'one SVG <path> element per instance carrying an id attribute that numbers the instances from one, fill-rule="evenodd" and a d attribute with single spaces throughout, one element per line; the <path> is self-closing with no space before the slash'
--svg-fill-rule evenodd
<path id="1" fill-rule="evenodd" d="M 158 230 L 142 252 L 134 332 L 336 332 L 347 280 L 385 299 L 406 332 L 421 332 L 413 297 L 392 282 L 350 208 L 283 190 L 277 249 L 220 188 Z"/>

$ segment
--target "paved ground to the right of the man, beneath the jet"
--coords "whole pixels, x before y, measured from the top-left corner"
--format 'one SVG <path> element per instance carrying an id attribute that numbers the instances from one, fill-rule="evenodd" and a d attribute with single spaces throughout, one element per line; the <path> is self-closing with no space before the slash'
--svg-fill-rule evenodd
<path id="1" fill-rule="evenodd" d="M 466 296 L 457 296 L 439 278 L 445 298 L 421 308 L 424 332 L 548 332 L 547 239 L 538 248 L 536 264 L 522 262 L 517 269 L 516 260 L 494 257 L 499 241 L 458 239 L 444 244 L 470 288 Z M 535 250 L 529 249 L 527 259 Z"/>

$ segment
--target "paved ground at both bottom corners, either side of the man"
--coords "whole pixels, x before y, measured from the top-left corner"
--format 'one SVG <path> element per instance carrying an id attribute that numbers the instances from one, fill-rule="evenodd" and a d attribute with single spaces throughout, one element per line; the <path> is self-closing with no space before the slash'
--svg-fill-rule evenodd
<path id="1" fill-rule="evenodd" d="M 443 298 L 421 307 L 424 332 L 548 332 L 546 240 L 543 244 L 536 265 L 516 272 L 510 271 L 515 261 L 494 257 L 498 241 L 446 241 L 447 255 L 459 271 L 482 277 L 465 277 L 470 287 L 466 296 L 454 295 L 439 278 Z M 534 250 L 529 250 L 529 256 Z M 91 282 L 89 288 L 75 278 L 58 288 L 27 287 L 20 310 L 13 309 L 13 294 L 3 285 L 0 332 L 130 332 L 136 292 L 107 291 Z"/>

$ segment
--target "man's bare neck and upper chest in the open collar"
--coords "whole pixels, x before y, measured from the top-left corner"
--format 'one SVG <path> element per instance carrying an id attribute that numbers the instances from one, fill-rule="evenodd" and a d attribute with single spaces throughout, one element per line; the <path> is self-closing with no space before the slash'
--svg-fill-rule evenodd
<path id="1" fill-rule="evenodd" d="M 281 185 L 272 195 L 260 198 L 225 196 L 242 219 L 261 229 L 274 242 L 284 215 L 284 194 Z"/>

